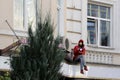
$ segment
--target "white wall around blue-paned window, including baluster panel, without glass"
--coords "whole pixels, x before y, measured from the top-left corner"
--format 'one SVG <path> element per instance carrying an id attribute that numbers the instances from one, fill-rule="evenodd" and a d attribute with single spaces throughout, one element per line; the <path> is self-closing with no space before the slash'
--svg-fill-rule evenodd
<path id="1" fill-rule="evenodd" d="M 111 6 L 111 47 L 87 45 L 88 2 Z M 66 0 L 66 37 L 72 42 L 71 48 L 83 39 L 88 50 L 87 62 L 120 65 L 119 10 L 120 0 Z"/>

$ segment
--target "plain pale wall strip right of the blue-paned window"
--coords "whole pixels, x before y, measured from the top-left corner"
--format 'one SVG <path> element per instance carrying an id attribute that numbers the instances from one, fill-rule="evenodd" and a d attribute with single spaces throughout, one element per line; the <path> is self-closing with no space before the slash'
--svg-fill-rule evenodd
<path id="1" fill-rule="evenodd" d="M 112 38 L 112 42 L 113 42 L 113 49 L 115 52 L 120 53 L 120 45 L 119 45 L 119 41 L 120 41 L 120 0 L 113 0 L 113 18 L 112 18 L 112 29 L 113 29 L 113 38 Z"/>

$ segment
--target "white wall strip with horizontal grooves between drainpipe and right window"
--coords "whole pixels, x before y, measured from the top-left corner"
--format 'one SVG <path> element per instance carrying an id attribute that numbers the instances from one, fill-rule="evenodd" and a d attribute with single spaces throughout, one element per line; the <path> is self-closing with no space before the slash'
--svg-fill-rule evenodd
<path id="1" fill-rule="evenodd" d="M 72 46 L 77 44 L 82 32 L 82 2 L 81 0 L 66 0 L 66 37 L 71 41 Z"/>

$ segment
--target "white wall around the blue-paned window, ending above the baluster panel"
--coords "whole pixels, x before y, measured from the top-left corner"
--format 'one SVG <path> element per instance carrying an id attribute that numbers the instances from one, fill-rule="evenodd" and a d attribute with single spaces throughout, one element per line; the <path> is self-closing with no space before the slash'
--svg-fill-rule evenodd
<path id="1" fill-rule="evenodd" d="M 87 46 L 87 3 L 96 2 L 101 5 L 110 5 L 112 8 L 112 26 L 111 26 L 111 47 Z M 79 39 L 85 41 L 86 48 L 89 50 L 120 53 L 120 0 L 66 0 L 65 9 L 65 33 L 66 37 L 72 42 L 72 48 Z M 72 35 L 72 36 L 71 36 Z"/>

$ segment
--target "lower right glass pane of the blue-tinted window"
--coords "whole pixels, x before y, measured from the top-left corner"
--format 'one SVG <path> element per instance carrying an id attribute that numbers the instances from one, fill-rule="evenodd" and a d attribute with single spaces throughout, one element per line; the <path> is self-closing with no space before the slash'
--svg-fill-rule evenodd
<path id="1" fill-rule="evenodd" d="M 101 20 L 101 46 L 110 46 L 110 22 Z"/>

